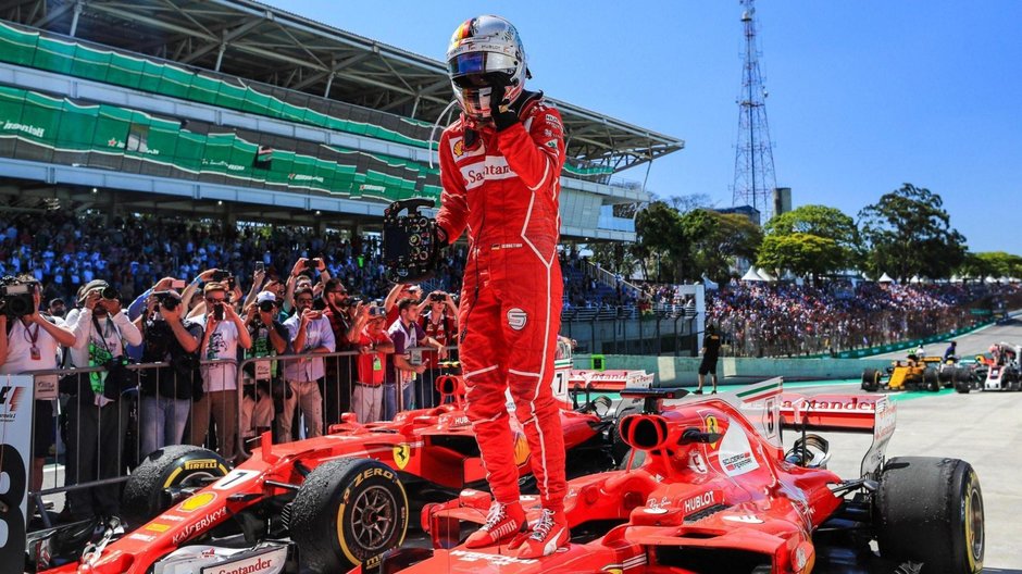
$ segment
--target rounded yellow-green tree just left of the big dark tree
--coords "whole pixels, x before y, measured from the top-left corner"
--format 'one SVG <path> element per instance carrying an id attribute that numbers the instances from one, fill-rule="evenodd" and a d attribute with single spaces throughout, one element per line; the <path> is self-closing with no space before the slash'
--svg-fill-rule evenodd
<path id="1" fill-rule="evenodd" d="M 802 205 L 770 220 L 757 255 L 757 265 L 780 276 L 820 275 L 857 266 L 858 229 L 840 210 Z"/>

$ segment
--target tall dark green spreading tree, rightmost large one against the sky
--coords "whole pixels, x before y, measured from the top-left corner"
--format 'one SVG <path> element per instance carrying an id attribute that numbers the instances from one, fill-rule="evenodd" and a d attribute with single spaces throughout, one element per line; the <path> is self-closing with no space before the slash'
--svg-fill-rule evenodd
<path id="1" fill-rule="evenodd" d="M 950 225 L 940 196 L 905 184 L 859 212 L 865 266 L 901 280 L 945 278 L 965 258 L 965 237 Z"/>

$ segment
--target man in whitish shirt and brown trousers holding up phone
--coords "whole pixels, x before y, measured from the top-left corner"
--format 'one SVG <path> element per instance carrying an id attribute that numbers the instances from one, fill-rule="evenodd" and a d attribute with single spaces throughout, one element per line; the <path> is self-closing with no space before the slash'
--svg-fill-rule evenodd
<path id="1" fill-rule="evenodd" d="M 205 444 L 210 414 L 216 422 L 217 450 L 234 457 L 238 415 L 238 347 L 249 349 L 252 338 L 241 317 L 227 301 L 227 286 L 207 283 L 202 288 L 207 314 L 198 317 L 202 326 L 199 359 L 216 361 L 199 366 L 202 374 L 202 398 L 191 408 L 191 444 Z"/>

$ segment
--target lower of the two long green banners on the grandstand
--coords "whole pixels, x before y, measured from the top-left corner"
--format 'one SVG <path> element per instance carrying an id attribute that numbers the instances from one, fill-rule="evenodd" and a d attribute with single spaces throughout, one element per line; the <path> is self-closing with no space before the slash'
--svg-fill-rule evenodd
<path id="1" fill-rule="evenodd" d="M 312 157 L 274 149 L 269 165 L 257 166 L 259 142 L 234 132 L 201 134 L 126 108 L 5 86 L 0 117 L 0 155 L 11 158 L 383 201 L 439 199 L 439 186 L 426 185 L 436 170 L 378 153 L 309 146 L 321 154 Z"/>

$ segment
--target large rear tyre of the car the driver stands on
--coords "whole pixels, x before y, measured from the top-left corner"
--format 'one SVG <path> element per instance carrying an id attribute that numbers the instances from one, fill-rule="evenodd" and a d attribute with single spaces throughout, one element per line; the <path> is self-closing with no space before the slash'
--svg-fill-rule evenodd
<path id="1" fill-rule="evenodd" d="M 983 492 L 968 462 L 934 457 L 890 459 L 874 504 L 881 557 L 920 562 L 927 573 L 977 574 L 983 570 Z"/>

